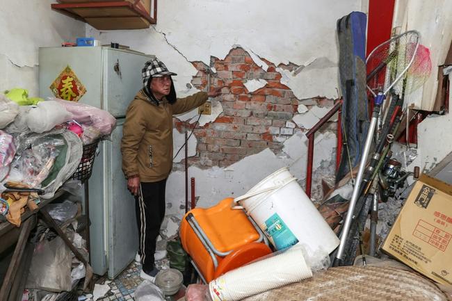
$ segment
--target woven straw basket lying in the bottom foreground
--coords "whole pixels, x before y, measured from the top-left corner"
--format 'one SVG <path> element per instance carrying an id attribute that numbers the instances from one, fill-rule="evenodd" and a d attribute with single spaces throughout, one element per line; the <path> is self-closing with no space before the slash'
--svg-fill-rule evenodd
<path id="1" fill-rule="evenodd" d="M 243 301 L 417 301 L 449 300 L 428 279 L 395 268 L 344 266 L 312 279 L 275 288 Z"/>

